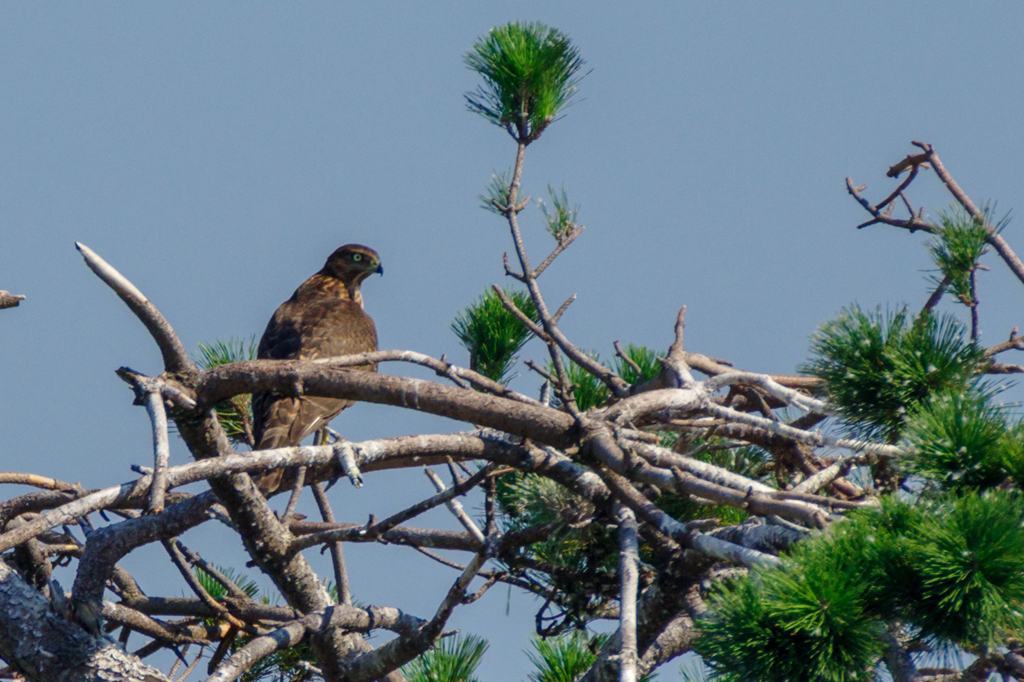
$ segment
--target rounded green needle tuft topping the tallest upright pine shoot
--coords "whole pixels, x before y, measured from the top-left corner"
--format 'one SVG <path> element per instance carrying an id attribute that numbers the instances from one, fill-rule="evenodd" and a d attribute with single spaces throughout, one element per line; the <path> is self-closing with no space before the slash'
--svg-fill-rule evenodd
<path id="1" fill-rule="evenodd" d="M 466 94 L 469 109 L 527 144 L 572 102 L 584 64 L 562 32 L 518 21 L 492 29 L 465 61 L 483 77 L 483 85 Z"/>

